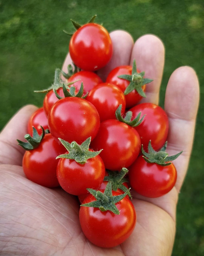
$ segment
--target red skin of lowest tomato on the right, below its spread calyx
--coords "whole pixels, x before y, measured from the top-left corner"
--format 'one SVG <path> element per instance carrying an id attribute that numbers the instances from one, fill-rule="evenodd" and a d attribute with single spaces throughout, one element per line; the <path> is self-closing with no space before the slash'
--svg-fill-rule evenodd
<path id="1" fill-rule="evenodd" d="M 159 197 L 173 188 L 177 171 L 173 163 L 165 167 L 156 163 L 147 163 L 140 155 L 129 167 L 128 177 L 131 188 L 140 195 Z"/>

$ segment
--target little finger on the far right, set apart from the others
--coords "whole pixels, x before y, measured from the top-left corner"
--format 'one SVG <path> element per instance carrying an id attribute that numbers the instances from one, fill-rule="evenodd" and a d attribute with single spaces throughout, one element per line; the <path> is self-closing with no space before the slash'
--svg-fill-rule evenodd
<path id="1" fill-rule="evenodd" d="M 177 169 L 176 189 L 179 192 L 186 175 L 194 139 L 199 105 L 199 81 L 190 67 L 176 69 L 168 82 L 164 109 L 169 117 L 169 155 L 183 150 L 173 161 Z"/>

